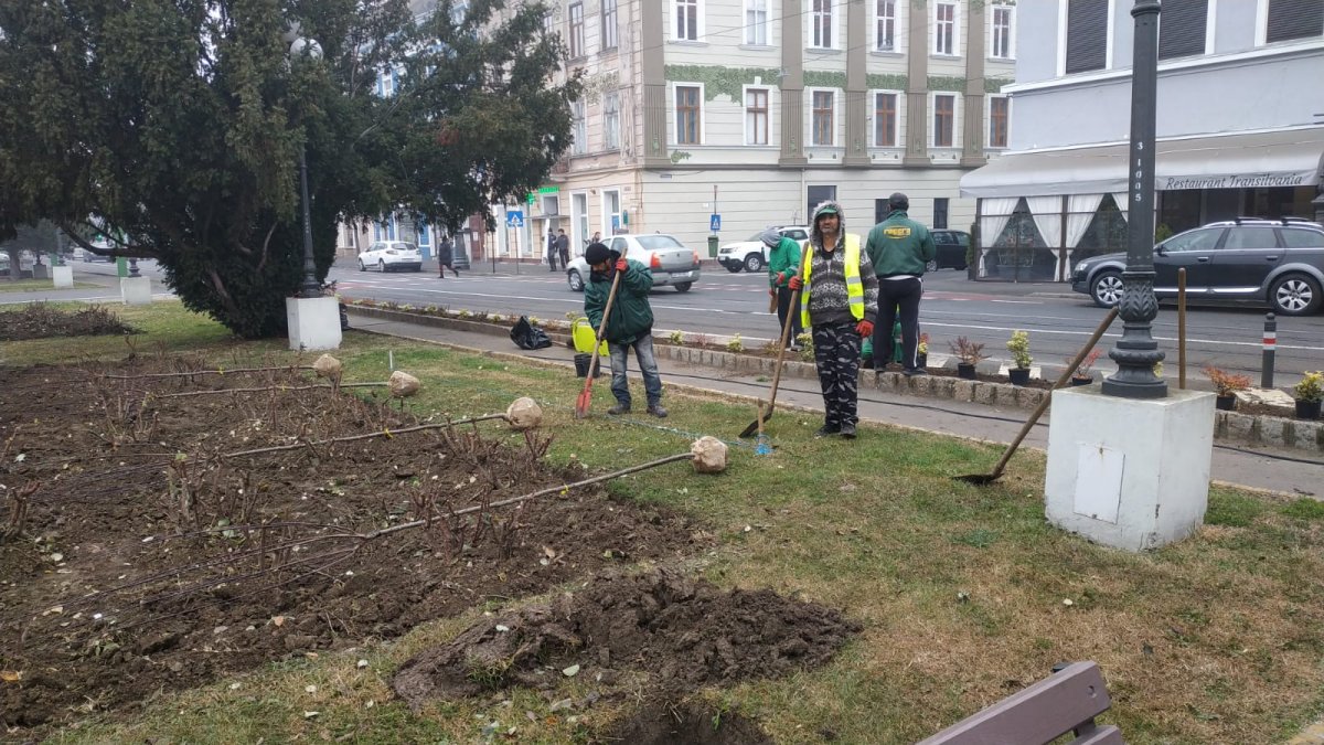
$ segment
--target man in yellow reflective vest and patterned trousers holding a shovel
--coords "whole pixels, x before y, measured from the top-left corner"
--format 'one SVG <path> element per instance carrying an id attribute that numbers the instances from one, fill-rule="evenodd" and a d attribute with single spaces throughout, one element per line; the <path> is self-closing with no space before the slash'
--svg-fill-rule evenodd
<path id="1" fill-rule="evenodd" d="M 859 347 L 874 333 L 878 277 L 859 236 L 845 232 L 845 216 L 835 201 L 814 208 L 801 270 L 789 285 L 801 289 L 800 319 L 812 329 L 824 392 L 824 426 L 814 436 L 853 440 L 859 422 Z"/>

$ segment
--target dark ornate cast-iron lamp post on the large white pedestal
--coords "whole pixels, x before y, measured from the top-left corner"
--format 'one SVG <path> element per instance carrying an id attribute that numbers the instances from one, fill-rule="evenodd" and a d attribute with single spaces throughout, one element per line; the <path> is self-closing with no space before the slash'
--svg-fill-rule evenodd
<path id="1" fill-rule="evenodd" d="M 1108 353 L 1117 371 L 1106 378 L 1103 392 L 1112 396 L 1157 399 L 1168 395 L 1168 383 L 1155 375 L 1162 362 L 1151 330 L 1158 314 L 1155 297 L 1155 114 L 1158 87 L 1158 0 L 1137 0 L 1131 9 L 1136 20 L 1135 54 L 1131 68 L 1131 220 L 1127 224 L 1127 269 L 1121 273 L 1121 339 Z"/>

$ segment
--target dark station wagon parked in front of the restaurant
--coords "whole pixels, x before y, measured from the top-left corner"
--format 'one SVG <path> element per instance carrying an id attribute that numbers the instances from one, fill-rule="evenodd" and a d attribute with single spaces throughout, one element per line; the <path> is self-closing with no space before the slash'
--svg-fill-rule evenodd
<path id="1" fill-rule="evenodd" d="M 1102 308 L 1121 300 L 1125 253 L 1084 258 L 1071 289 Z M 1238 217 L 1186 231 L 1155 247 L 1155 294 L 1177 296 L 1186 269 L 1190 300 L 1254 300 L 1280 315 L 1315 313 L 1324 302 L 1324 227 L 1299 217 Z"/>

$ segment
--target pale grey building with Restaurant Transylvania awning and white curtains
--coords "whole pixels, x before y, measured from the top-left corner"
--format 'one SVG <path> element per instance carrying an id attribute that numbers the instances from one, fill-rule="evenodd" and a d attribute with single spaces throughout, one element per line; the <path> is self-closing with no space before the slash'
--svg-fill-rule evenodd
<path id="1" fill-rule="evenodd" d="M 1125 249 L 1132 0 L 1018 0 L 1010 148 L 961 180 L 978 272 L 1064 280 Z M 1324 0 L 1162 0 L 1157 235 L 1324 219 Z"/>

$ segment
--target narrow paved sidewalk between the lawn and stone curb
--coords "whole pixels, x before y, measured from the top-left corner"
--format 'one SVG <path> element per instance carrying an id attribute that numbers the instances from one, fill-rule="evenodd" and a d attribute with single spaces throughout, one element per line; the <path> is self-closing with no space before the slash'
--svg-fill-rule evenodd
<path id="1" fill-rule="evenodd" d="M 573 375 L 575 353 L 563 345 L 527 351 L 516 347 L 508 338 L 499 334 L 371 318 L 355 314 L 352 309 L 350 312 L 350 323 L 355 329 L 376 334 L 444 343 L 458 349 L 508 355 L 510 358 L 564 365 L 567 374 Z M 751 406 L 751 418 L 755 414 L 753 400 L 759 396 L 767 396 L 769 387 L 767 379 L 760 379 L 756 375 L 679 363 L 661 357 L 658 358 L 658 369 L 662 372 L 663 383 L 673 388 L 692 388 L 732 398 L 745 398 Z M 632 379 L 638 379 L 633 365 Z M 800 408 L 804 411 L 800 416 L 818 424 L 822 416 L 822 398 L 817 382 L 782 376 L 777 391 L 777 407 L 781 410 L 779 418 L 786 415 L 788 408 Z M 602 406 L 602 411 L 605 411 L 605 404 Z M 1010 443 L 1025 424 L 1029 414 L 1019 408 L 989 407 L 951 399 L 918 399 L 886 394 L 866 387 L 859 392 L 859 416 L 865 422 L 914 427 L 929 432 L 996 443 Z M 1047 447 L 1047 415 L 1045 415 L 1039 426 L 1034 427 L 1029 433 L 1022 447 L 1038 448 L 1041 451 Z M 670 419 L 667 423 L 679 428 L 685 428 L 686 426 L 683 422 L 673 422 Z M 776 436 L 776 420 L 769 427 L 769 431 Z M 733 440 L 736 435 L 736 432 L 706 433 L 724 440 Z M 867 437 L 867 431 L 862 436 Z M 773 444 L 776 444 L 776 440 L 773 440 Z M 850 447 L 846 443 L 842 444 L 843 447 Z M 1249 448 L 1246 449 L 1249 451 Z M 970 471 L 992 469 L 993 463 L 994 459 L 990 459 L 988 464 L 972 464 Z M 1213 477 L 1215 481 L 1225 481 L 1251 489 L 1324 498 L 1324 487 L 1321 487 L 1321 483 L 1324 483 L 1324 479 L 1321 479 L 1324 468 L 1321 465 L 1324 464 L 1320 464 L 1317 457 L 1309 453 L 1303 455 L 1301 451 L 1256 448 L 1253 452 L 1242 452 L 1233 447 L 1215 445 Z"/>

